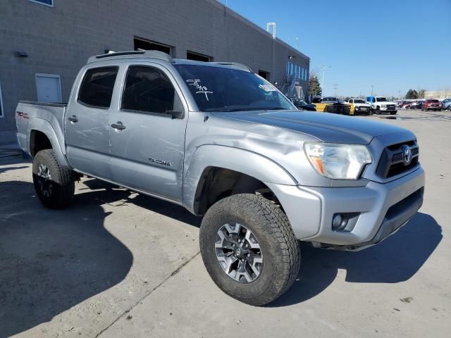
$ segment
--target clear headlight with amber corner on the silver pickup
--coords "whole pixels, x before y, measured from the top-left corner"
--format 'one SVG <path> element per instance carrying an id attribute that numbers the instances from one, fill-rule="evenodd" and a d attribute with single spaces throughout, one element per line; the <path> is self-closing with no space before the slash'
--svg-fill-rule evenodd
<path id="1" fill-rule="evenodd" d="M 335 180 L 357 180 L 373 158 L 366 146 L 307 142 L 304 151 L 311 166 L 321 175 Z"/>

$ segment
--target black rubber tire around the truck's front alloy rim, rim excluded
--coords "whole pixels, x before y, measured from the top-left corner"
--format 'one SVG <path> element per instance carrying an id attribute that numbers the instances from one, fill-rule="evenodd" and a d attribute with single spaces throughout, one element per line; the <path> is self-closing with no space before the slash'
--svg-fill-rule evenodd
<path id="1" fill-rule="evenodd" d="M 247 227 L 261 247 L 261 273 L 247 284 L 227 275 L 216 258 L 217 232 L 228 223 Z M 209 208 L 200 228 L 200 251 L 216 285 L 229 296 L 253 306 L 277 299 L 292 286 L 299 273 L 299 242 L 287 216 L 280 206 L 256 194 L 233 195 Z"/>

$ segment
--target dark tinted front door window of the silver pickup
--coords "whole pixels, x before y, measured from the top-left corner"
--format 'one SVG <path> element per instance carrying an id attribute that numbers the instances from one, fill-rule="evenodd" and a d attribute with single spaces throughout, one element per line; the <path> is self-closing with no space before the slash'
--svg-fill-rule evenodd
<path id="1" fill-rule="evenodd" d="M 124 110 L 167 114 L 180 105 L 171 80 L 161 70 L 140 65 L 128 68 L 122 98 Z"/>

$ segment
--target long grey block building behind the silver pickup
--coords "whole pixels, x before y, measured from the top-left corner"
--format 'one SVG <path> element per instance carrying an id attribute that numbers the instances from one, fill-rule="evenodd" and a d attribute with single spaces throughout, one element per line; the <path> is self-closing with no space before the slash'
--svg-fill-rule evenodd
<path id="1" fill-rule="evenodd" d="M 307 94 L 309 58 L 216 0 L 2 0 L 0 144 L 15 139 L 18 101 L 68 101 L 89 56 L 134 49 L 245 63 Z"/>

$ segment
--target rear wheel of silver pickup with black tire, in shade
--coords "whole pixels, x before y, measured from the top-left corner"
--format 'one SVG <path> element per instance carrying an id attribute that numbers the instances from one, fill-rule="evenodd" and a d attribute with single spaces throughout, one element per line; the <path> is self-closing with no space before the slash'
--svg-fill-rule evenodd
<path id="1" fill-rule="evenodd" d="M 42 177 L 38 175 L 40 165 L 48 168 L 51 177 L 50 180 L 47 180 L 51 184 L 51 189 L 47 189 L 47 193 L 43 192 Z M 33 183 L 39 200 L 47 208 L 58 209 L 68 206 L 75 193 L 75 180 L 72 170 L 59 165 L 52 149 L 44 149 L 36 154 L 33 160 Z"/>

